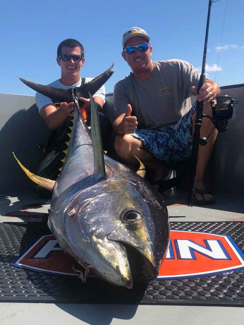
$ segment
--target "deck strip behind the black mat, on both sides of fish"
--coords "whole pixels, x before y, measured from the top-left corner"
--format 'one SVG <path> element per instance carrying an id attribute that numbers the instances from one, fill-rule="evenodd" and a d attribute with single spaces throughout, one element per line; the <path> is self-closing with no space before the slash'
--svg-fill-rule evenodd
<path id="1" fill-rule="evenodd" d="M 187 192 L 167 190 L 163 193 L 170 221 L 177 222 L 242 222 L 244 198 L 215 195 L 216 203 L 187 206 Z M 42 222 L 47 218 L 50 201 L 33 190 L 0 196 L 0 223 Z"/>

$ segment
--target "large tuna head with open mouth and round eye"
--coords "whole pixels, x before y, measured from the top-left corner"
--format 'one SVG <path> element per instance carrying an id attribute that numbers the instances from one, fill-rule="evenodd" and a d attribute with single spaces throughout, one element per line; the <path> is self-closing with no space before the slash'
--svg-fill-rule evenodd
<path id="1" fill-rule="evenodd" d="M 169 225 L 161 197 L 124 170 L 130 183 L 107 178 L 83 190 L 69 204 L 64 220 L 76 261 L 112 284 L 131 288 L 133 282 L 157 277 Z"/>

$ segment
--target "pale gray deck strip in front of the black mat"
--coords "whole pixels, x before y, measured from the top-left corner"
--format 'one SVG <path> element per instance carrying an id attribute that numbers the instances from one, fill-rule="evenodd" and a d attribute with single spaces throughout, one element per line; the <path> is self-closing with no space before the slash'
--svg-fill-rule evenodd
<path id="1" fill-rule="evenodd" d="M 0 305 L 0 324 L 243 325 L 244 308 L 169 305 Z"/>

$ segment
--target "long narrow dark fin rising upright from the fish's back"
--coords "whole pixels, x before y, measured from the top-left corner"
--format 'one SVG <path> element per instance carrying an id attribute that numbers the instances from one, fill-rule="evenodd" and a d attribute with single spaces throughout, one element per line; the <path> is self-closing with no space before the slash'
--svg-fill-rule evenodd
<path id="1" fill-rule="evenodd" d="M 94 154 L 94 175 L 100 179 L 106 178 L 104 156 L 102 149 L 102 136 L 98 117 L 98 110 L 94 98 L 89 92 L 91 102 L 91 138 Z"/>

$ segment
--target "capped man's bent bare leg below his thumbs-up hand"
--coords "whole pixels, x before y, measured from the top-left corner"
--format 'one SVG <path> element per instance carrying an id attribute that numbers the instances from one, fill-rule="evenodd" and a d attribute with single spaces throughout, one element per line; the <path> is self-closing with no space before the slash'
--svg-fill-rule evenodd
<path id="1" fill-rule="evenodd" d="M 129 163 L 138 164 L 135 156 L 138 157 L 153 173 L 152 182 L 162 180 L 168 174 L 168 169 L 163 166 L 163 163 L 143 149 L 142 140 L 130 134 L 119 135 L 115 138 L 114 147 L 118 155 Z"/>

